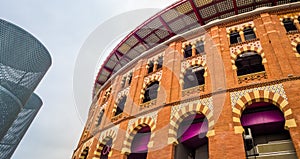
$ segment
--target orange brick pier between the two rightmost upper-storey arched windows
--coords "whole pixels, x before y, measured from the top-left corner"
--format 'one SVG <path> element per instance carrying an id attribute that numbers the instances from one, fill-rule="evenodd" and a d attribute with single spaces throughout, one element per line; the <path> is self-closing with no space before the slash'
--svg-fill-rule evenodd
<path id="1" fill-rule="evenodd" d="M 263 13 L 261 18 L 254 20 L 254 23 L 258 27 L 258 35 L 267 58 L 268 78 L 278 79 L 293 73 L 289 62 L 290 54 L 282 45 L 290 42 L 278 17 Z"/>

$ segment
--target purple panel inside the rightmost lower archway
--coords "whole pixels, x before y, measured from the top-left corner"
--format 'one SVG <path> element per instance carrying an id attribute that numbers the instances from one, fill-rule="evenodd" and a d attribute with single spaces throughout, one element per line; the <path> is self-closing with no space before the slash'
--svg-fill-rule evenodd
<path id="1" fill-rule="evenodd" d="M 269 110 L 251 114 L 244 114 L 241 118 L 241 123 L 244 127 L 283 121 L 284 117 L 279 110 Z"/>

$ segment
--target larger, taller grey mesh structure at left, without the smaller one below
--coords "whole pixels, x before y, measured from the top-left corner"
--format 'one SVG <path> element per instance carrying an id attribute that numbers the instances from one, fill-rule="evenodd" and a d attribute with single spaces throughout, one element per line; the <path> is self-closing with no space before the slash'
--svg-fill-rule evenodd
<path id="1" fill-rule="evenodd" d="M 51 57 L 37 39 L 0 19 L 0 140 L 50 65 Z"/>

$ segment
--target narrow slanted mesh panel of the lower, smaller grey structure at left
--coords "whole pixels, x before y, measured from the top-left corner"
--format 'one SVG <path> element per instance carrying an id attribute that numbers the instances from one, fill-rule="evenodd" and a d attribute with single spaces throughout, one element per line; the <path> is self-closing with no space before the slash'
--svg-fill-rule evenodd
<path id="1" fill-rule="evenodd" d="M 0 159 L 12 156 L 41 106 L 41 99 L 33 94 L 1 140 Z"/>

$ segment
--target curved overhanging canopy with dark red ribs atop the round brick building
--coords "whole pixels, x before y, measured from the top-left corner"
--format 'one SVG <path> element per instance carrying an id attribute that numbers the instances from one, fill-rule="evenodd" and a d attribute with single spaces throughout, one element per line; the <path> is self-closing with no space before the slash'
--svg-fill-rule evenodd
<path id="1" fill-rule="evenodd" d="M 102 64 L 93 96 L 118 70 L 143 52 L 175 35 L 260 7 L 288 4 L 297 0 L 181 0 L 157 13 L 128 34 Z"/>

